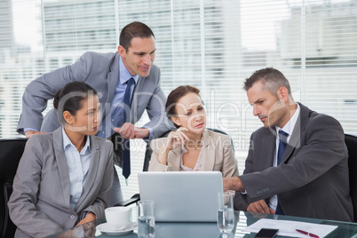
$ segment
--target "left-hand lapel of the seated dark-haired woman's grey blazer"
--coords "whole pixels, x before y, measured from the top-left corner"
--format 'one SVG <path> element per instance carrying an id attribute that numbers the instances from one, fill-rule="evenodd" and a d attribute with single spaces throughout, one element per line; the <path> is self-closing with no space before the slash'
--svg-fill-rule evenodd
<path id="1" fill-rule="evenodd" d="M 59 168 L 59 178 L 60 184 L 63 191 L 63 199 L 66 202 L 66 205 L 70 206 L 70 195 L 69 195 L 69 174 L 67 159 L 65 151 L 63 150 L 63 139 L 62 139 L 62 127 L 59 127 L 56 131 L 53 131 L 53 147 L 54 147 L 54 157 Z"/>

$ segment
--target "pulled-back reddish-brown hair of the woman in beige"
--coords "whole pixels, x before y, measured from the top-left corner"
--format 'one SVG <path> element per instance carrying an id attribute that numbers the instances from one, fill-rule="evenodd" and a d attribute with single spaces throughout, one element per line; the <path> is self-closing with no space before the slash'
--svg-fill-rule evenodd
<path id="1" fill-rule="evenodd" d="M 169 119 L 171 119 L 171 116 L 177 115 L 176 105 L 178 104 L 178 100 L 184 97 L 189 92 L 197 94 L 201 99 L 200 90 L 190 85 L 178 86 L 176 89 L 170 92 L 165 105 L 166 116 Z M 176 128 L 179 128 L 179 125 L 175 123 L 173 124 Z"/>

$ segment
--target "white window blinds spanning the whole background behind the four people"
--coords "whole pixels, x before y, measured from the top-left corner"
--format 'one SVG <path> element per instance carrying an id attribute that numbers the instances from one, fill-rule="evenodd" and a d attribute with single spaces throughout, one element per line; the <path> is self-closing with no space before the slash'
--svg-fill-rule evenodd
<path id="1" fill-rule="evenodd" d="M 115 52 L 133 20 L 156 37 L 155 64 L 168 94 L 178 85 L 202 91 L 209 127 L 234 139 L 239 171 L 252 131 L 242 83 L 276 67 L 297 101 L 337 118 L 357 134 L 357 3 L 298 0 L 5 0 L 0 6 L 0 136 L 16 137 L 21 95 L 31 80 L 86 51 Z M 147 122 L 145 116 L 138 125 Z M 133 141 L 125 198 L 138 193 L 145 144 Z"/>

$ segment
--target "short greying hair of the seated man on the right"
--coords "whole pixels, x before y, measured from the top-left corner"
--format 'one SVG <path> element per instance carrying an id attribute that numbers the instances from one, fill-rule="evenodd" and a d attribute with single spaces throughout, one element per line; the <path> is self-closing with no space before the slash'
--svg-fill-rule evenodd
<path id="1" fill-rule="evenodd" d="M 273 95 L 279 90 L 280 87 L 288 89 L 288 93 L 291 94 L 290 83 L 288 79 L 274 67 L 266 67 L 259 69 L 253 73 L 249 78 L 245 79 L 243 89 L 249 91 L 254 83 L 261 82 L 267 91 L 270 91 Z"/>

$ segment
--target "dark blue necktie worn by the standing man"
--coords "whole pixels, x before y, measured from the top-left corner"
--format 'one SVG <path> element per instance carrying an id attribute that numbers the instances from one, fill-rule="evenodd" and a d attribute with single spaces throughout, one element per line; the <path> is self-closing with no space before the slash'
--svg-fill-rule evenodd
<path id="1" fill-rule="evenodd" d="M 130 107 L 131 107 L 131 84 L 135 83 L 134 79 L 131 77 L 131 79 L 128 80 L 126 83 L 126 90 L 124 94 L 124 110 L 123 110 L 123 123 L 130 122 L 129 118 L 130 116 L 127 116 L 127 110 L 128 110 L 128 115 L 130 115 Z M 125 178 L 129 178 L 131 175 L 131 140 L 130 139 L 123 139 L 123 176 Z"/>

